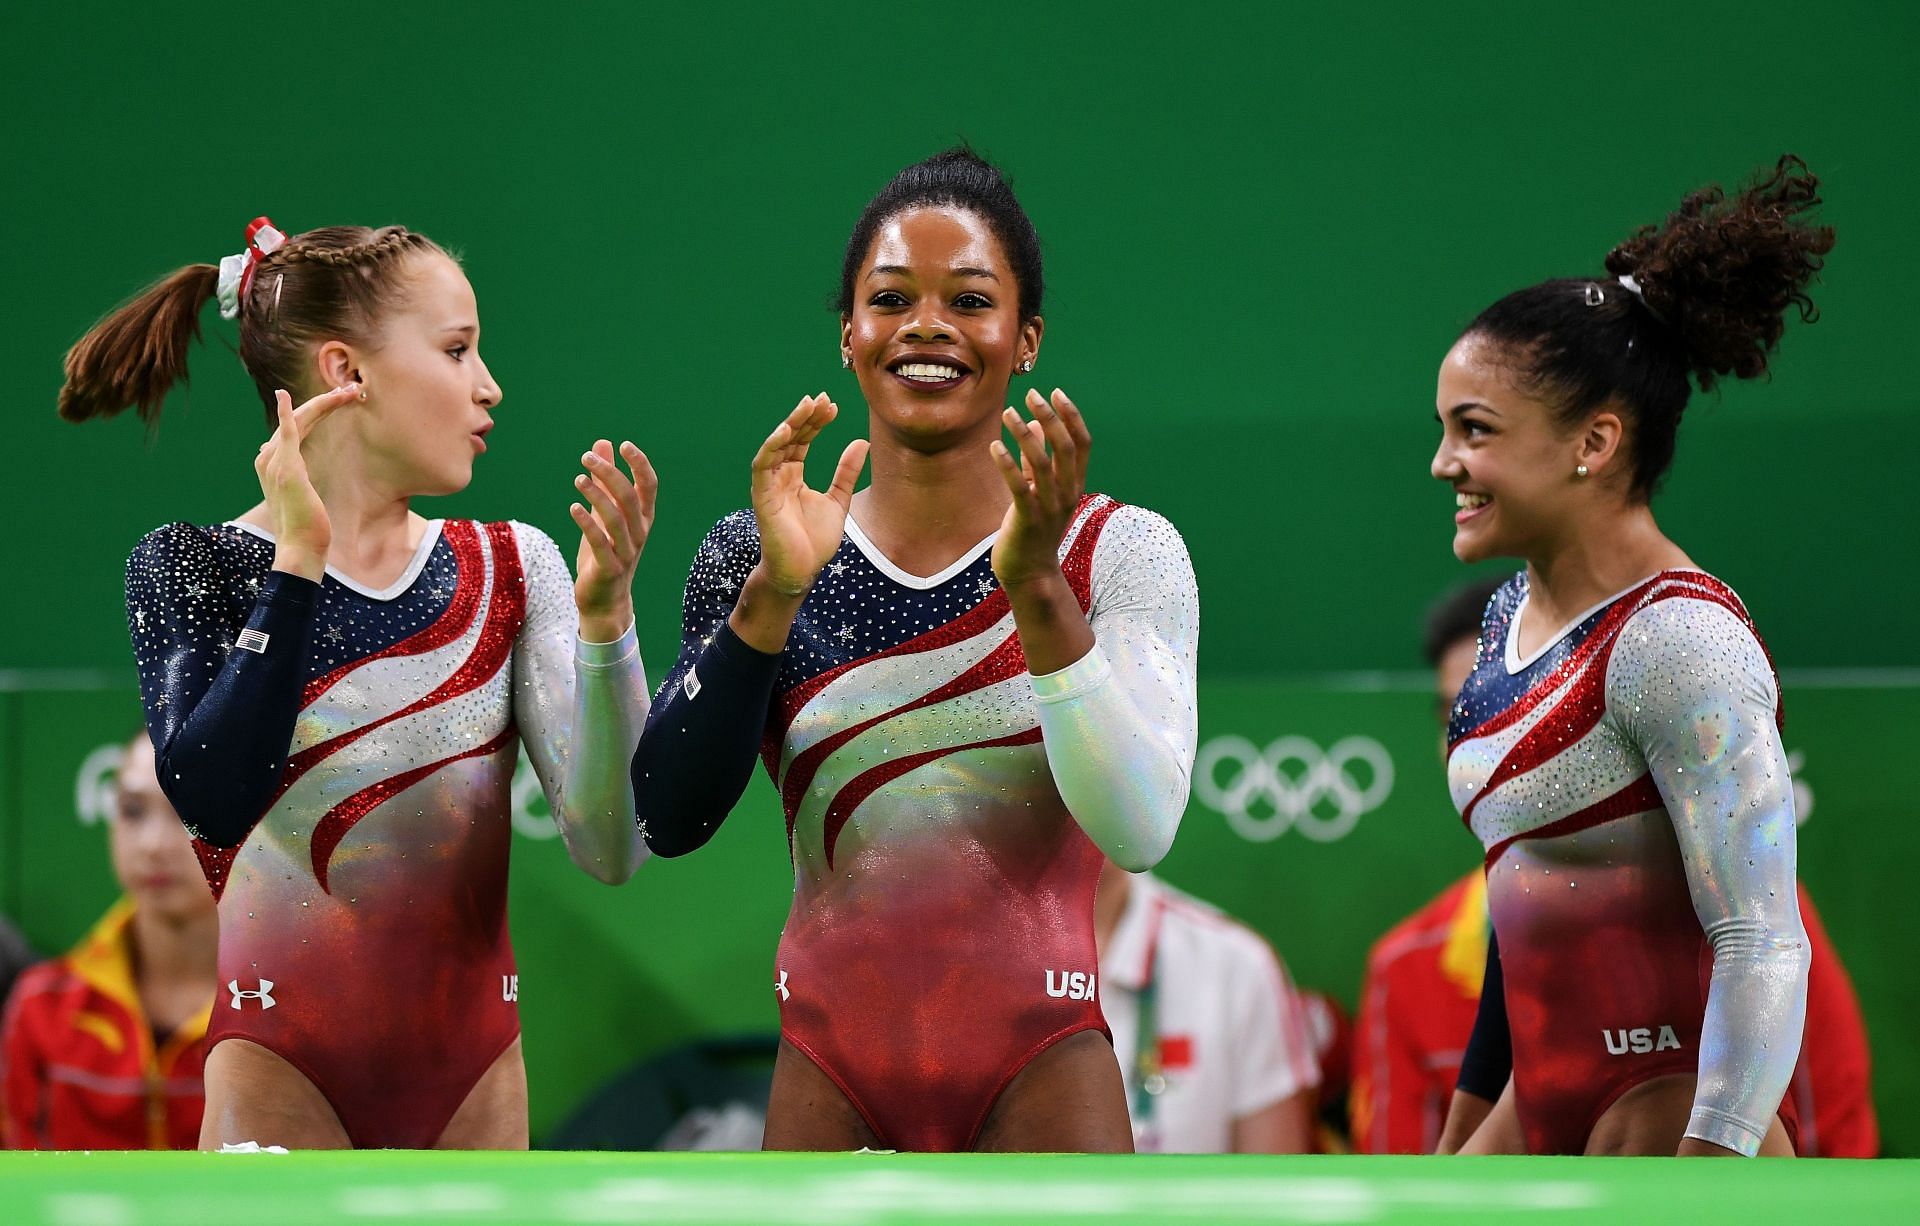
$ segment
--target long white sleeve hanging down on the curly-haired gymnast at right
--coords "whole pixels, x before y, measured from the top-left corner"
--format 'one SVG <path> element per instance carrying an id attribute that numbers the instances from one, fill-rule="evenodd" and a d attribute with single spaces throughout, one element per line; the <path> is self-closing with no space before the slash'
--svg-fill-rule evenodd
<path id="1" fill-rule="evenodd" d="M 1811 963 L 1774 672 L 1732 610 L 1672 597 L 1620 627 L 1607 708 L 1659 787 L 1713 946 L 1686 1134 L 1753 1155 L 1793 1076 Z"/>

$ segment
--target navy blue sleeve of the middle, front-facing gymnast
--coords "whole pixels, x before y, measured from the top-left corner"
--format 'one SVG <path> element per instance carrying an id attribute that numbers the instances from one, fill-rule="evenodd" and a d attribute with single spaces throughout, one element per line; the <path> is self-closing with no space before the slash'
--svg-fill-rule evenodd
<path id="1" fill-rule="evenodd" d="M 701 848 L 753 779 L 780 656 L 741 643 L 728 616 L 758 560 L 760 531 L 749 510 L 720 520 L 693 556 L 680 656 L 634 750 L 634 808 L 655 856 Z"/>

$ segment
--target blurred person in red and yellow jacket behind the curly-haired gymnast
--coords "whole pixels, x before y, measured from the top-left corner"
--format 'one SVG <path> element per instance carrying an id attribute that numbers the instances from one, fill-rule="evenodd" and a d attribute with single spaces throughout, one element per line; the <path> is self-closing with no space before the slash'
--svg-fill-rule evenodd
<path id="1" fill-rule="evenodd" d="M 1446 721 L 1473 672 L 1480 618 L 1505 579 L 1461 583 L 1427 612 L 1423 650 L 1434 670 L 1434 716 L 1446 758 Z M 1803 1157 L 1874 1157 L 1866 1023 L 1847 967 L 1820 925 L 1805 886 L 1801 921 L 1812 948 L 1807 1036 L 1788 1097 L 1799 1113 Z M 1354 1149 L 1357 1153 L 1452 1153 L 1492 1111 L 1511 1057 L 1461 1080 L 1461 1055 L 1486 975 L 1486 873 L 1473 869 L 1394 925 L 1367 959 L 1354 1051 Z M 1452 1115 L 1448 1105 L 1452 1101 Z M 1442 1124 L 1452 1130 L 1442 1136 Z M 1519 1145 L 1519 1138 L 1511 1138 Z"/>

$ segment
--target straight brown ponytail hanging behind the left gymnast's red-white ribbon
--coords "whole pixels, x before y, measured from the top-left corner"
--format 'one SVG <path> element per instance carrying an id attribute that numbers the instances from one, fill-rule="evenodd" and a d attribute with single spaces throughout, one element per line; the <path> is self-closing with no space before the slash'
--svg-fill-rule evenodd
<path id="1" fill-rule="evenodd" d="M 167 391 L 186 382 L 186 343 L 200 338 L 200 309 L 221 271 L 186 265 L 106 317 L 67 349 L 60 416 L 84 422 L 138 409 L 154 424 Z"/>

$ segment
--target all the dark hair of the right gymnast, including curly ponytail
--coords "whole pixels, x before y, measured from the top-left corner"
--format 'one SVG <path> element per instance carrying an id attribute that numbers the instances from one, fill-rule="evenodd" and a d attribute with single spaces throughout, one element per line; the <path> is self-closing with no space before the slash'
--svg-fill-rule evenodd
<path id="1" fill-rule="evenodd" d="M 1807 286 L 1834 249 L 1834 228 L 1809 217 L 1818 188 L 1807 163 L 1788 153 L 1732 198 L 1718 186 L 1692 192 L 1663 224 L 1642 226 L 1607 253 L 1611 278 L 1509 294 L 1463 336 L 1500 342 L 1523 384 L 1567 424 L 1620 405 L 1632 430 L 1632 493 L 1651 497 L 1672 464 L 1692 388 L 1766 374 L 1788 309 L 1818 318 Z"/>

